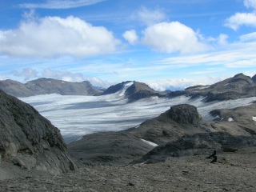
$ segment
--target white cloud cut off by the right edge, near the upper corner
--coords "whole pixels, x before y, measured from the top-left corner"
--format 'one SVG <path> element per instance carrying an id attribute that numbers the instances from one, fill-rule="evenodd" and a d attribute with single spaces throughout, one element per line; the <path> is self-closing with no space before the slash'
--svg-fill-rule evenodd
<path id="1" fill-rule="evenodd" d="M 240 26 L 256 27 L 256 14 L 254 13 L 236 13 L 226 19 L 224 24 L 233 30 L 238 30 Z"/>

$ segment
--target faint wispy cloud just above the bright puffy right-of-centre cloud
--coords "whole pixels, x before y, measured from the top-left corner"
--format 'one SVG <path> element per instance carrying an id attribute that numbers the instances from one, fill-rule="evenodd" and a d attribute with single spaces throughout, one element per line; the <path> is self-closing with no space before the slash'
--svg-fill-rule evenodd
<path id="1" fill-rule="evenodd" d="M 146 7 L 142 7 L 141 10 L 138 10 L 138 12 L 133 15 L 133 18 L 150 26 L 166 20 L 166 14 L 164 14 L 162 10 L 148 10 Z"/>

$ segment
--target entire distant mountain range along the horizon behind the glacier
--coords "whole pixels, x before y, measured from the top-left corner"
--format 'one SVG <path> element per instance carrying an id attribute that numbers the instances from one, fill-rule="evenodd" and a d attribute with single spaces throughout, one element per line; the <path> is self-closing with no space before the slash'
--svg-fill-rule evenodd
<path id="1" fill-rule="evenodd" d="M 237 74 L 233 78 L 227 78 L 210 86 L 190 86 L 186 90 L 166 91 L 166 93 L 153 90 L 143 82 L 121 82 L 103 91 L 95 88 L 87 81 L 65 82 L 53 78 L 38 78 L 24 84 L 13 80 L 4 80 L 0 81 L 0 89 L 15 97 L 28 97 L 38 94 L 106 95 L 125 90 L 122 94 L 130 102 L 152 96 L 174 98 L 180 95 L 191 98 L 202 96 L 205 102 L 212 102 L 254 96 L 256 94 L 256 75 L 250 78 L 244 74 Z"/>

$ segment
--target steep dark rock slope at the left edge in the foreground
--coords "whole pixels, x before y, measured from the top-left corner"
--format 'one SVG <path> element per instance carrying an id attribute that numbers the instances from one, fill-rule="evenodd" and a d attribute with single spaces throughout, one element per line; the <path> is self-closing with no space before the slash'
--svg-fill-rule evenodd
<path id="1" fill-rule="evenodd" d="M 27 170 L 74 170 L 59 130 L 32 106 L 0 90 L 0 156 Z"/>

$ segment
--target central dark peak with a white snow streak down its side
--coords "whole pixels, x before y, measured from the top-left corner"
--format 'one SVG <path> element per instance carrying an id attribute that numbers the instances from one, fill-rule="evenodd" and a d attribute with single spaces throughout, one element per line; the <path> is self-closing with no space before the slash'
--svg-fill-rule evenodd
<path id="1" fill-rule="evenodd" d="M 149 98 L 153 96 L 163 97 L 165 93 L 159 93 L 150 88 L 142 82 L 122 82 L 117 85 L 110 86 L 103 94 L 114 94 L 118 91 L 124 90 L 124 95 L 129 99 L 130 102 L 134 102 L 141 98 Z"/>

